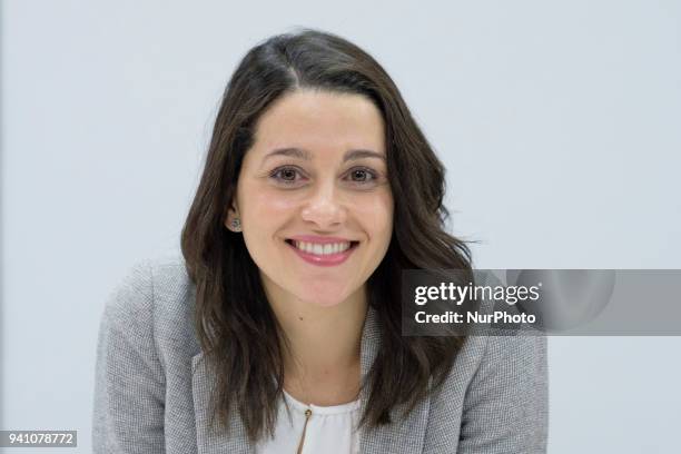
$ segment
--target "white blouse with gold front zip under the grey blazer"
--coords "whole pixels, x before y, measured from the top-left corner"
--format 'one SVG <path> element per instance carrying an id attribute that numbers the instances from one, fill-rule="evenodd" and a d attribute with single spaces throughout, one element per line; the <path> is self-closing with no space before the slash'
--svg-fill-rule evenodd
<path id="1" fill-rule="evenodd" d="M 274 440 L 268 435 L 256 446 L 258 454 L 297 454 L 303 431 L 305 438 L 302 454 L 357 454 L 359 434 L 356 431 L 359 416 L 359 398 L 354 402 L 332 406 L 307 405 L 296 401 L 284 391 L 290 408 L 290 417 L 284 401 L 279 411 Z M 306 411 L 309 409 L 309 416 Z M 307 426 L 305 420 L 307 418 Z"/>

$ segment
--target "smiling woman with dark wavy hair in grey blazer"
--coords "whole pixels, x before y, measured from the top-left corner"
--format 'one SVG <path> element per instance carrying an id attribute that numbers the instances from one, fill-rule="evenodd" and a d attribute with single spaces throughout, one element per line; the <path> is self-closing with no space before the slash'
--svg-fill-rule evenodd
<path id="1" fill-rule="evenodd" d="M 109 299 L 98 453 L 539 453 L 537 336 L 402 336 L 403 269 L 462 269 L 444 168 L 366 52 L 273 37 L 225 91 L 181 236 Z"/>

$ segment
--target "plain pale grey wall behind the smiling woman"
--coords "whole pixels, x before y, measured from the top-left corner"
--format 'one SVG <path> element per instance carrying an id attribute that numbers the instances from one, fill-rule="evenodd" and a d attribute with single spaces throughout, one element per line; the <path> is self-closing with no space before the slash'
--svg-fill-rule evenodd
<path id="1" fill-rule="evenodd" d="M 393 76 L 480 268 L 681 267 L 677 1 L 4 1 L 2 423 L 90 452 L 107 295 L 177 246 L 224 86 L 293 26 Z M 551 453 L 678 448 L 681 338 L 550 339 Z"/>

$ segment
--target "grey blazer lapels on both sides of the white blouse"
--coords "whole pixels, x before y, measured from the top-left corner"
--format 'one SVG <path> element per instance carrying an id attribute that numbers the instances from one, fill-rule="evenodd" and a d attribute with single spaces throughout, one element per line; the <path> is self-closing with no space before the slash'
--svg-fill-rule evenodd
<path id="1" fill-rule="evenodd" d="M 363 381 L 374 364 L 382 345 L 377 316 L 376 309 L 369 306 L 362 329 L 361 374 Z M 217 428 L 209 428 L 210 387 L 214 383 L 214 373 L 204 362 L 204 353 L 200 352 L 193 356 L 191 387 L 198 454 L 254 454 L 255 447 L 250 446 L 244 424 L 236 412 L 231 413 L 229 430 L 226 433 L 219 433 Z M 361 414 L 366 408 L 368 392 L 367 386 L 359 394 Z M 404 405 L 394 408 L 391 413 L 393 424 L 381 426 L 371 432 L 362 427 L 359 452 L 389 452 L 391 446 L 395 446 L 396 443 L 407 448 L 406 452 L 422 452 L 428 420 L 430 397 L 421 402 L 406 418 L 398 418 L 397 415 L 401 415 L 404 409 Z"/>

